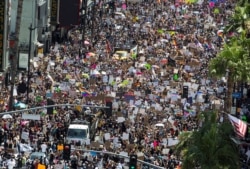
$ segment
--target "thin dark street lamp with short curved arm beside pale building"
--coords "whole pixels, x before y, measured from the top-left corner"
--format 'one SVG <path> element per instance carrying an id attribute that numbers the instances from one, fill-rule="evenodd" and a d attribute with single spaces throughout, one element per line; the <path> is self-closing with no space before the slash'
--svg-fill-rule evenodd
<path id="1" fill-rule="evenodd" d="M 30 58 L 31 58 L 31 43 L 32 43 L 32 31 L 37 29 L 37 28 L 43 28 L 44 27 L 32 27 L 32 24 L 30 24 L 29 31 L 30 31 L 30 37 L 29 37 L 29 53 L 28 53 L 28 72 L 27 72 L 27 96 L 26 96 L 26 103 L 29 103 L 29 91 L 30 91 Z M 42 32 L 43 35 L 45 32 Z"/>

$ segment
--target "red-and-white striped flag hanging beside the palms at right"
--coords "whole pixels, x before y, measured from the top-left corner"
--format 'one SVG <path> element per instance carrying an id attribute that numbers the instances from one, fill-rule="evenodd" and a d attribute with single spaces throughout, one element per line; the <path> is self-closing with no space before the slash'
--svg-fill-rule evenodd
<path id="1" fill-rule="evenodd" d="M 247 131 L 247 124 L 230 114 L 228 114 L 228 117 L 234 127 L 234 131 L 236 132 L 236 134 L 244 138 Z"/>

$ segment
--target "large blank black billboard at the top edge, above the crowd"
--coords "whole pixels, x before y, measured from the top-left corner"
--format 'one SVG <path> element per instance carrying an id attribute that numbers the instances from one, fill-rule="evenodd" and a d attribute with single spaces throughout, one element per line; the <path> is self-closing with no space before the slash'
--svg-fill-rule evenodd
<path id="1" fill-rule="evenodd" d="M 80 0 L 60 0 L 59 23 L 61 27 L 79 24 Z"/>

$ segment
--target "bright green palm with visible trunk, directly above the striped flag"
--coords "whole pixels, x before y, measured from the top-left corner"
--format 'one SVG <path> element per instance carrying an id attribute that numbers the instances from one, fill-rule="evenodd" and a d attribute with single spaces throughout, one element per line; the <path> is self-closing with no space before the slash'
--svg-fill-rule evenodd
<path id="1" fill-rule="evenodd" d="M 241 37 L 231 39 L 217 57 L 209 63 L 211 76 L 223 77 L 227 74 L 227 96 L 225 111 L 230 112 L 232 107 L 232 93 L 234 83 L 237 81 L 250 81 L 250 41 L 242 33 Z"/>

